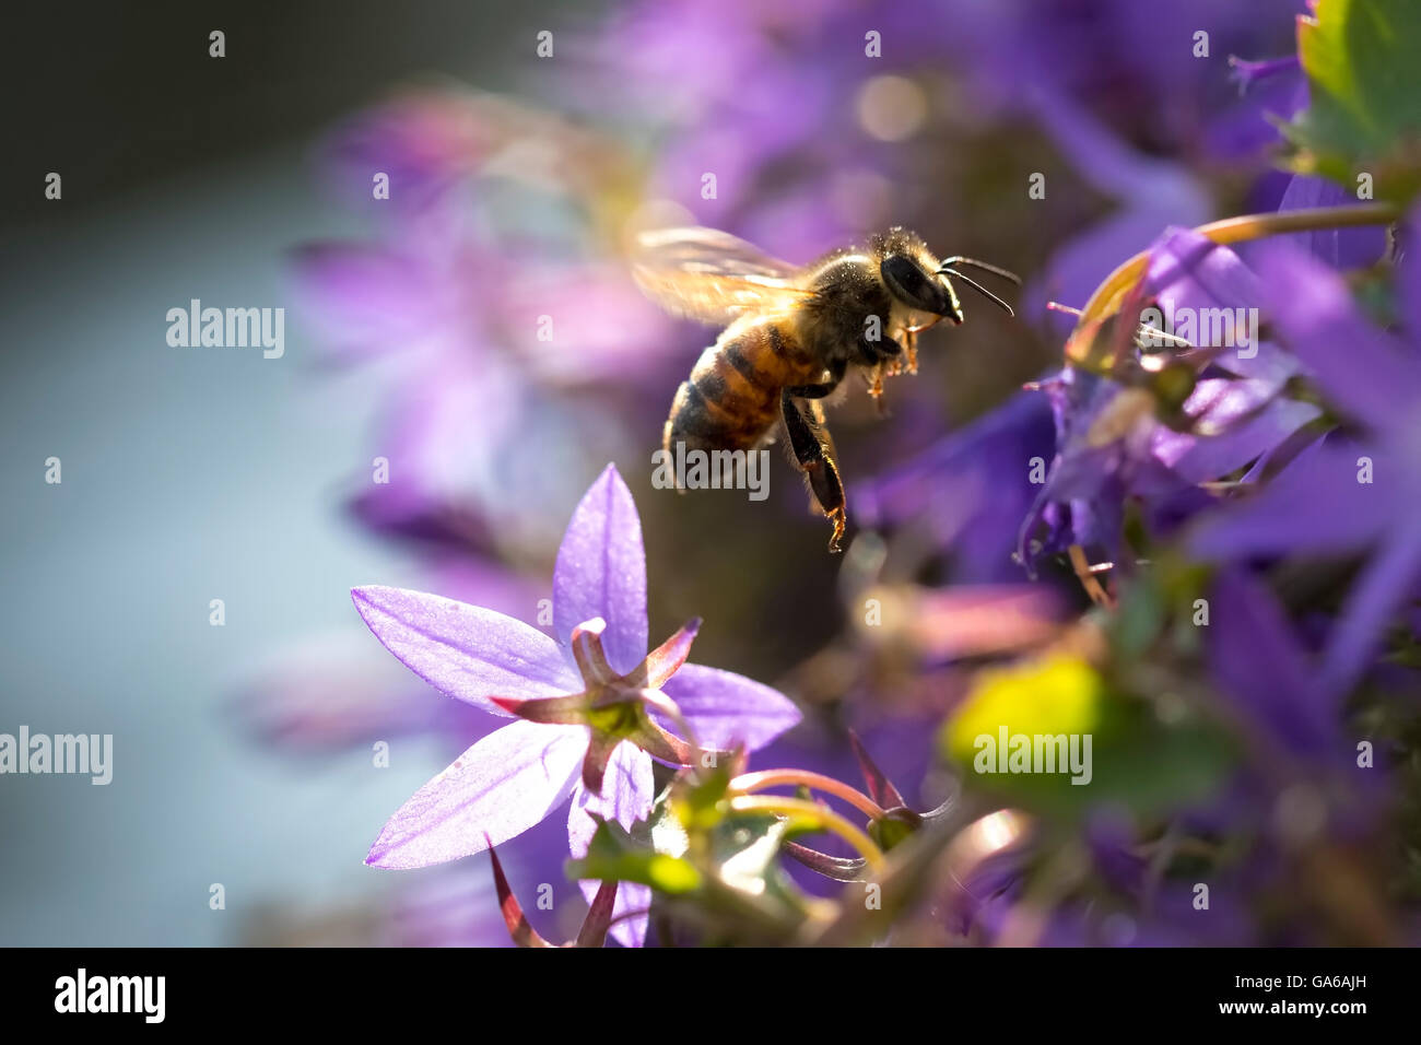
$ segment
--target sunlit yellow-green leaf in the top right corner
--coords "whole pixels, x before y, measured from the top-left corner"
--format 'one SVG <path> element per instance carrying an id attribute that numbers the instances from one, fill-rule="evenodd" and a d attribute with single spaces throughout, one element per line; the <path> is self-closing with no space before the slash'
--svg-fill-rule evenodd
<path id="1" fill-rule="evenodd" d="M 1421 4 L 1415 0 L 1319 0 L 1299 18 L 1297 53 L 1310 105 L 1285 127 L 1295 168 L 1357 188 L 1371 173 L 1378 198 L 1421 189 Z"/>

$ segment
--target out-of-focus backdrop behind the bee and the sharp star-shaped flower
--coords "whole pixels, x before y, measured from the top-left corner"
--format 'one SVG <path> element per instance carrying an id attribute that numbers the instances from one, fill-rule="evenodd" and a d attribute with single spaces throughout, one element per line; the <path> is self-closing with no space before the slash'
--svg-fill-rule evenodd
<path id="1" fill-rule="evenodd" d="M 1228 55 L 1290 53 L 1302 3 L 760 7 L 27 16 L 0 175 L 0 732 L 112 734 L 115 755 L 105 788 L 0 779 L 0 943 L 500 943 L 483 857 L 361 863 L 490 724 L 388 657 L 348 590 L 533 621 L 608 461 L 641 509 L 652 633 L 703 616 L 696 660 L 800 700 L 782 761 L 851 775 L 854 725 L 911 800 L 941 791 L 921 722 L 955 682 L 907 681 L 845 600 L 1020 577 L 1032 491 L 993 452 L 1049 461 L 1050 415 L 1023 398 L 1005 431 L 973 421 L 1059 361 L 1049 299 L 1083 304 L 1168 223 L 1279 205 L 1263 112 L 1289 100 L 1241 98 Z M 834 411 L 851 533 L 891 546 L 827 556 L 779 454 L 766 502 L 651 488 L 715 333 L 627 277 L 628 230 L 672 220 L 794 262 L 902 223 L 1026 276 L 1017 320 L 968 296 L 966 326 L 924 338 L 888 419 L 858 388 Z M 284 307 L 284 355 L 171 347 L 165 316 L 190 299 Z M 887 481 L 912 466 L 928 478 L 904 499 Z M 568 897 L 560 928 L 563 846 L 550 823 L 507 856 Z"/>

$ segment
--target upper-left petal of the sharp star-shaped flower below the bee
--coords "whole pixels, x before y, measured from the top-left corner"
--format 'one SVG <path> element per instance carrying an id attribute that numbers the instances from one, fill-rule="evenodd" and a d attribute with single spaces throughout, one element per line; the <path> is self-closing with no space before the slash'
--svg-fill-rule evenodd
<path id="1" fill-rule="evenodd" d="M 379 584 L 354 589 L 351 597 L 385 648 L 449 697 L 503 715 L 490 695 L 541 698 L 581 690 L 557 643 L 513 617 Z"/>

